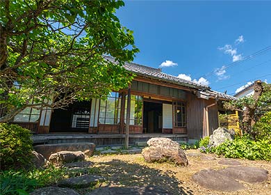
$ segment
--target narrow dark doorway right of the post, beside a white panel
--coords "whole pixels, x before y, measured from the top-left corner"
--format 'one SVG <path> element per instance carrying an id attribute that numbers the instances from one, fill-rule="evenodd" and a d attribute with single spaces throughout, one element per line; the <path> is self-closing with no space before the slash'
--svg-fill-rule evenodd
<path id="1" fill-rule="evenodd" d="M 144 102 L 143 132 L 161 133 L 163 121 L 163 104 L 156 102 Z"/>

